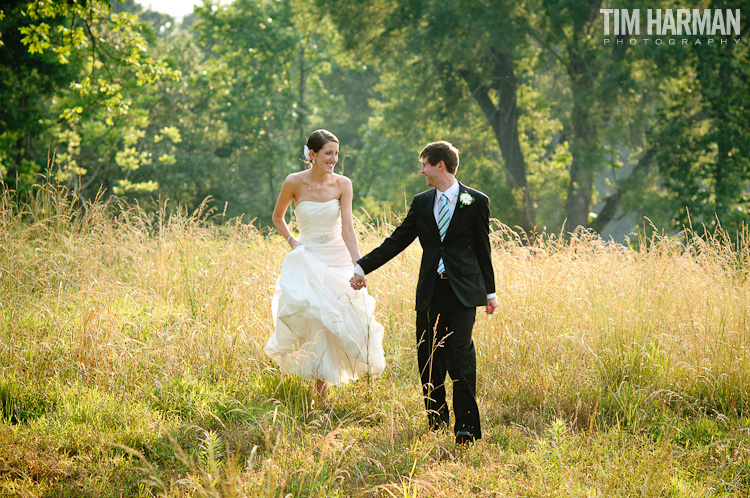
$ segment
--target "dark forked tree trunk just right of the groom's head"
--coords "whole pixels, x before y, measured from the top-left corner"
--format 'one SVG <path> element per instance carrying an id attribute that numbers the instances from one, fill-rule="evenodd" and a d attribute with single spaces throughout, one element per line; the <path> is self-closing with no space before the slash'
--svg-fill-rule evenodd
<path id="1" fill-rule="evenodd" d="M 502 166 L 510 187 L 514 190 L 520 189 L 523 193 L 521 228 L 527 236 L 532 236 L 536 228 L 536 215 L 526 179 L 526 161 L 518 138 L 518 106 L 516 103 L 516 88 L 518 85 L 513 71 L 513 57 L 494 48 L 490 52 L 496 63 L 498 106 L 492 103 L 489 95 L 490 88 L 480 80 L 476 73 L 464 70 L 461 71 L 460 75 L 469 85 L 472 96 L 479 104 L 479 108 L 490 126 L 492 126 L 495 139 L 505 160 Z"/>

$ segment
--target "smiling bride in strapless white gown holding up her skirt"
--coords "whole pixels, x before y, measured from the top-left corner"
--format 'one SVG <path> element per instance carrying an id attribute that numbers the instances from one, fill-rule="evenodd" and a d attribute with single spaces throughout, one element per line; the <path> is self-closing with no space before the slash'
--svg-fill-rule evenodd
<path id="1" fill-rule="evenodd" d="M 385 368 L 383 327 L 374 320 L 367 289 L 352 290 L 349 278 L 360 259 L 352 223 L 352 182 L 333 172 L 339 140 L 316 130 L 305 145 L 306 171 L 284 180 L 273 224 L 291 246 L 273 297 L 275 331 L 264 350 L 284 374 L 315 379 L 322 402 L 328 385 L 342 385 Z M 284 216 L 291 202 L 299 239 Z"/>

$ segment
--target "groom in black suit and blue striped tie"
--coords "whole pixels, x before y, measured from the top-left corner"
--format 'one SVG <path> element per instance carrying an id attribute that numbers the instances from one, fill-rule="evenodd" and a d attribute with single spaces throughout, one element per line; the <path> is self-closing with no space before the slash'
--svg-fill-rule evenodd
<path id="1" fill-rule="evenodd" d="M 489 239 L 489 199 L 456 180 L 458 149 L 433 142 L 419 153 L 427 185 L 409 213 L 377 249 L 360 259 L 352 287 L 366 285 L 365 275 L 380 268 L 419 237 L 422 263 L 417 282 L 417 359 L 422 393 L 432 430 L 447 428 L 445 374 L 453 380 L 456 443 L 480 439 L 476 352 L 471 330 L 476 307 L 497 308 Z"/>

